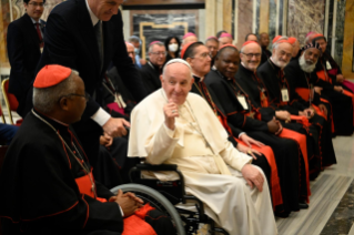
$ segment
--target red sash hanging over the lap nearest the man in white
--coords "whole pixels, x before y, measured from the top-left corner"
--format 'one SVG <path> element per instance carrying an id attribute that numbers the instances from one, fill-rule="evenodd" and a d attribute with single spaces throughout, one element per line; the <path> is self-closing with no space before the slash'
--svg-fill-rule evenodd
<path id="1" fill-rule="evenodd" d="M 240 141 L 236 137 L 235 137 L 235 141 L 239 144 L 243 144 L 246 146 L 246 144 L 243 141 Z M 272 188 L 271 193 L 272 193 L 273 210 L 275 210 L 275 206 L 283 204 L 283 197 L 282 197 L 280 180 L 277 176 L 277 167 L 276 167 L 276 162 L 275 162 L 273 150 L 270 146 L 259 147 L 257 145 L 254 145 L 254 144 L 252 144 L 252 149 L 263 153 L 264 156 L 266 157 L 267 163 L 271 166 L 271 182 L 270 182 L 270 184 L 271 184 L 271 188 Z"/>

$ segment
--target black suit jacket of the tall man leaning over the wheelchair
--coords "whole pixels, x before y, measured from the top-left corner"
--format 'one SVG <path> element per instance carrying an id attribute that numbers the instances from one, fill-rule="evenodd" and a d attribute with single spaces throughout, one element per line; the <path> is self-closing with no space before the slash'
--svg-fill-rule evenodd
<path id="1" fill-rule="evenodd" d="M 95 95 L 95 100 L 88 101 L 82 120 L 88 120 L 100 108 L 102 78 L 111 61 L 136 101 L 146 95 L 140 74 L 127 53 L 120 11 L 102 23 L 102 31 L 104 58 L 101 70 L 98 41 L 84 0 L 58 4 L 47 22 L 44 50 L 37 71 L 45 64 L 61 64 L 79 71 L 85 91 Z"/>

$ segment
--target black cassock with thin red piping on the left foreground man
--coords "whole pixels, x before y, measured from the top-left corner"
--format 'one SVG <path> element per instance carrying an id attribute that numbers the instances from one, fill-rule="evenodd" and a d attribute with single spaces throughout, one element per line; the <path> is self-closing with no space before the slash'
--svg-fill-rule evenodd
<path id="1" fill-rule="evenodd" d="M 36 113 L 55 130 L 29 113 L 12 140 L 0 174 L 3 234 L 121 234 L 123 218 L 117 203 L 101 203 L 79 191 L 75 178 L 85 172 L 70 150 L 90 165 L 71 127 Z M 113 196 L 99 182 L 95 188 L 98 197 Z"/>

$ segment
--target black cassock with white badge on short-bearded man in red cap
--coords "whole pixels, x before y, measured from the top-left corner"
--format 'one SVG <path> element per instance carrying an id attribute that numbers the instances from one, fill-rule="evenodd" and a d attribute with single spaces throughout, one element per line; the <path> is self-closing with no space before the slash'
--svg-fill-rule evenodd
<path id="1" fill-rule="evenodd" d="M 257 69 L 257 74 L 262 80 L 265 89 L 267 91 L 267 96 L 270 100 L 270 105 L 276 110 L 285 110 L 293 115 L 299 115 L 299 111 L 303 111 L 309 106 L 299 102 L 299 94 L 293 91 L 293 86 L 289 84 L 284 71 L 276 67 L 271 60 L 263 63 Z M 283 102 L 281 90 L 287 91 L 289 102 Z M 285 123 L 282 122 L 283 126 L 291 129 L 301 134 L 306 135 L 306 146 L 307 146 L 307 159 L 320 155 L 318 139 L 320 133 L 317 126 L 310 125 L 309 127 L 300 123 Z M 312 174 L 311 177 L 316 177 L 317 174 Z"/>

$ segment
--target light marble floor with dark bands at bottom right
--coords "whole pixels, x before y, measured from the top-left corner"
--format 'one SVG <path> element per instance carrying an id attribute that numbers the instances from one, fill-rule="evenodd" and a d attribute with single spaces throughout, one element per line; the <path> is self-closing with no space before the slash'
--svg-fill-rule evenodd
<path id="1" fill-rule="evenodd" d="M 281 235 L 354 235 L 354 136 L 333 139 L 337 164 L 311 182 L 310 207 L 276 218 Z"/>

